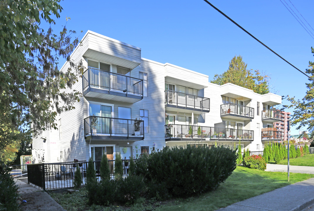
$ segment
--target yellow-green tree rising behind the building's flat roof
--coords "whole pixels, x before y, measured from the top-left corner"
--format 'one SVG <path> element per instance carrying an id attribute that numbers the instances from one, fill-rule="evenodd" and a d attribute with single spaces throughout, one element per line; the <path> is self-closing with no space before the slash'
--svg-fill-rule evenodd
<path id="1" fill-rule="evenodd" d="M 251 89 L 261 95 L 269 92 L 269 79 L 268 75 L 264 75 L 259 70 L 246 69 L 247 64 L 242 61 L 242 56 L 235 56 L 229 62 L 229 68 L 223 74 L 214 75 L 211 83 L 224 85 L 232 83 L 238 86 Z"/>

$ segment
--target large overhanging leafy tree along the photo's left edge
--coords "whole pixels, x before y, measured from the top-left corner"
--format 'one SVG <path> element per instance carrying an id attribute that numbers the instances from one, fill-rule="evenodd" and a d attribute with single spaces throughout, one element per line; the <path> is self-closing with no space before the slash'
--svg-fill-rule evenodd
<path id="1" fill-rule="evenodd" d="M 78 44 L 64 27 L 62 32 L 44 30 L 41 22 L 55 24 L 62 7 L 60 0 L 2 0 L 0 2 L 0 152 L 19 148 L 32 123 L 32 134 L 57 128 L 55 117 L 73 109 L 80 93 L 64 92 L 77 82 L 83 71 L 81 61 L 70 53 Z M 68 66 L 58 69 L 59 57 Z M 3 129 L 4 128 L 4 129 Z"/>

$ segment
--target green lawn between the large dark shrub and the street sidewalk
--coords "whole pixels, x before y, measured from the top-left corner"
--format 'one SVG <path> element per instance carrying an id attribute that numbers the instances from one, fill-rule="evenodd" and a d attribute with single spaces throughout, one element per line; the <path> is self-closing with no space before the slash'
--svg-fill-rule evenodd
<path id="1" fill-rule="evenodd" d="M 63 208 L 68 211 L 81 210 L 216 210 L 246 198 L 260 195 L 281 188 L 289 184 L 314 177 L 313 174 L 290 173 L 287 182 L 286 172 L 264 172 L 256 169 L 237 167 L 232 175 L 213 192 L 187 199 L 173 199 L 169 201 L 144 200 L 143 198 L 131 207 L 114 205 L 111 207 L 87 206 L 84 196 L 85 190 L 72 194 L 50 193 Z"/>

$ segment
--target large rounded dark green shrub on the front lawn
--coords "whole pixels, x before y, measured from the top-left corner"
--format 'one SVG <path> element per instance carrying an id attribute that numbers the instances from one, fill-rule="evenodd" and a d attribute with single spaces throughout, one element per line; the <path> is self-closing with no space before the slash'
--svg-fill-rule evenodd
<path id="1" fill-rule="evenodd" d="M 186 197 L 218 188 L 236 168 L 237 154 L 225 146 L 187 145 L 164 148 L 142 159 L 135 163 L 136 174 L 146 177 L 147 183 L 165 184 L 174 197 Z"/>

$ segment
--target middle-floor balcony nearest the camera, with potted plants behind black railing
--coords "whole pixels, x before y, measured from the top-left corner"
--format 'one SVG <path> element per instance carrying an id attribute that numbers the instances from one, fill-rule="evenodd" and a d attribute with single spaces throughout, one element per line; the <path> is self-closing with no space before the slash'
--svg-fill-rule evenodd
<path id="1" fill-rule="evenodd" d="M 144 121 L 89 116 L 84 119 L 84 135 L 89 140 L 143 140 Z"/>

